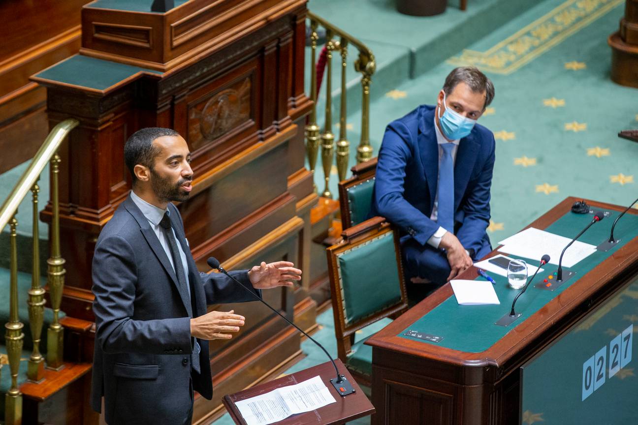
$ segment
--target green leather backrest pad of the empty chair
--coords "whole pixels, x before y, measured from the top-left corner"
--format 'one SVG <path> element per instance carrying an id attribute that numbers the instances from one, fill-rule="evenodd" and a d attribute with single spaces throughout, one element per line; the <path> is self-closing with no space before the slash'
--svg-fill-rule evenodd
<path id="1" fill-rule="evenodd" d="M 346 326 L 401 301 L 394 232 L 337 254 Z"/>

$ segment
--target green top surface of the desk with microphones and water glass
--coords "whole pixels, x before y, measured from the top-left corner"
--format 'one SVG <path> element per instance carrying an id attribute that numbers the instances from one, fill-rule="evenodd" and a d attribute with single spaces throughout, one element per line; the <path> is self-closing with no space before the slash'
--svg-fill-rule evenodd
<path id="1" fill-rule="evenodd" d="M 618 217 L 618 214 L 619 212 L 611 212 L 609 217 L 605 217 L 601 222 L 591 226 L 590 229 L 579 238 L 579 241 L 598 245 L 600 242 L 609 238 L 611 225 L 616 217 Z M 545 230 L 573 238 L 587 226 L 591 221 L 591 217 L 592 215 L 590 214 L 581 215 L 568 212 L 551 224 L 551 226 L 545 228 Z M 556 270 L 556 266 L 553 264 L 544 266 L 544 271 L 538 273 L 534 282 L 531 282 L 530 287 L 528 287 L 527 291 L 516 302 L 516 312 L 523 313 L 523 315 L 521 315 L 516 322 L 510 324 L 510 326 L 498 326 L 494 323 L 510 311 L 512 301 L 514 301 L 514 297 L 519 291 L 508 287 L 507 278 L 492 275 L 494 280 L 496 280 L 494 289 L 496 289 L 496 294 L 501 302 L 500 305 L 458 305 L 456 297 L 452 295 L 421 319 L 401 331 L 397 336 L 422 343 L 439 345 L 461 352 L 484 352 L 503 338 L 508 332 L 512 331 L 512 329 L 516 328 L 516 326 L 523 323 L 533 315 L 533 313 L 536 313 L 540 308 L 549 303 L 554 297 L 577 282 L 579 278 L 595 268 L 595 266 L 607 257 L 614 254 L 616 250 L 635 238 L 635 236 L 638 236 L 638 217 L 625 214 L 623 218 L 618 220 L 618 224 L 616 224 L 616 229 L 614 230 L 614 236 L 621 239 L 620 243 L 618 243 L 614 249 L 608 252 L 597 251 L 580 263 L 575 264 L 573 268 L 563 267 L 563 270 L 575 271 L 576 275 L 554 291 L 545 291 L 534 286 L 540 282 L 540 278 L 546 277 Z M 538 265 L 538 259 L 526 259 L 526 261 L 529 264 Z M 433 343 L 403 335 L 408 329 L 440 336 L 443 339 L 438 343 Z"/>

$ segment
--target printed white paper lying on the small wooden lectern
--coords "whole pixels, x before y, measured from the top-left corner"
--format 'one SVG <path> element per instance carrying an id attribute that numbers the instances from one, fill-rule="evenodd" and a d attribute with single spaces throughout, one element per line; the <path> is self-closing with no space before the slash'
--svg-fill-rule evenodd
<path id="1" fill-rule="evenodd" d="M 336 403 L 320 377 L 316 376 L 295 385 L 272 390 L 270 393 L 237 401 L 248 425 L 267 425 L 286 417 Z"/>

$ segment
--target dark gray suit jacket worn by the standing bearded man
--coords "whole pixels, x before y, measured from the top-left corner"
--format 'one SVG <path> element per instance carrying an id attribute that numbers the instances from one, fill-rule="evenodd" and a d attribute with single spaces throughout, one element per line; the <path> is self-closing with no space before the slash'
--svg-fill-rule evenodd
<path id="1" fill-rule="evenodd" d="M 200 273 L 174 205 L 170 220 L 188 259 L 188 292 L 180 290 L 165 250 L 144 214 L 129 197 L 100 233 L 93 256 L 93 312 L 96 320 L 91 405 L 116 424 L 182 424 L 193 389 L 212 398 L 208 342 L 198 340 L 201 373 L 191 368 L 193 317 L 206 305 L 252 301 L 248 292 L 221 273 Z M 251 291 L 247 271 L 231 274 Z"/>

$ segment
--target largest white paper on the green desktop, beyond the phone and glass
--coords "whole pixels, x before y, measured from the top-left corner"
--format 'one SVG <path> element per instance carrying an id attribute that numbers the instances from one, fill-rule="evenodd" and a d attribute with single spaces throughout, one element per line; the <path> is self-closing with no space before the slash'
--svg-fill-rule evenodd
<path id="1" fill-rule="evenodd" d="M 513 256 L 529 258 L 535 261 L 540 261 L 540 257 L 544 256 L 544 254 L 549 254 L 549 263 L 558 265 L 560 254 L 570 241 L 571 239 L 565 238 L 565 236 L 528 227 L 524 231 L 500 241 L 499 243 L 504 246 L 498 250 L 505 252 L 505 254 L 512 254 Z M 575 241 L 565 251 L 563 266 L 573 267 L 594 252 L 596 252 L 594 245 Z"/>

